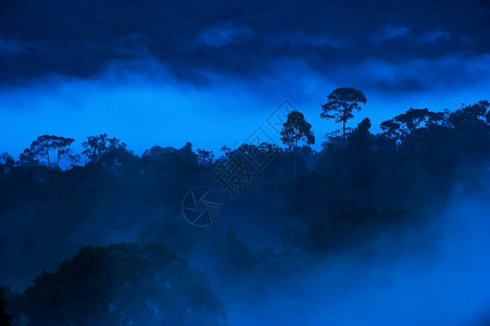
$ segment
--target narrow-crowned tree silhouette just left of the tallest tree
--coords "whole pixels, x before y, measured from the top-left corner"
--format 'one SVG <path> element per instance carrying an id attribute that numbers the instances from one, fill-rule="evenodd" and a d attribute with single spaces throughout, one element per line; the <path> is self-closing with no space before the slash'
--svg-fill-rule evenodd
<path id="1" fill-rule="evenodd" d="M 303 113 L 299 111 L 291 111 L 288 114 L 287 121 L 282 124 L 280 131 L 280 140 L 293 151 L 293 172 L 296 174 L 296 151 L 299 142 L 306 145 L 315 143 L 315 135 L 312 131 L 312 125 L 306 122 Z"/>

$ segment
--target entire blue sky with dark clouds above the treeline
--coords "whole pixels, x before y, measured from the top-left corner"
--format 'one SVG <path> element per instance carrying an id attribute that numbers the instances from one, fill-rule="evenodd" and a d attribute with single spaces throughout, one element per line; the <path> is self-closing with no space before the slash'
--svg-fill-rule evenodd
<path id="1" fill-rule="evenodd" d="M 489 17 L 482 0 L 4 0 L 0 151 L 101 133 L 136 153 L 218 151 L 257 127 L 276 137 L 285 99 L 322 142 L 337 126 L 321 104 L 343 86 L 367 97 L 352 126 L 457 109 L 490 98 Z"/>

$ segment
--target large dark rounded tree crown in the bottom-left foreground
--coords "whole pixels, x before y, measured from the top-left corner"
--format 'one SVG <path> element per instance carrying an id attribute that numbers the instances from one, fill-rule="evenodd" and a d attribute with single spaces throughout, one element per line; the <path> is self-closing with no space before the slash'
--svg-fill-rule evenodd
<path id="1" fill-rule="evenodd" d="M 33 325 L 221 325 L 200 272 L 164 244 L 85 247 L 24 291 Z"/>

